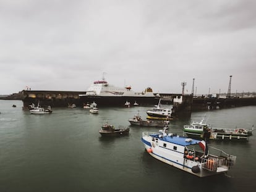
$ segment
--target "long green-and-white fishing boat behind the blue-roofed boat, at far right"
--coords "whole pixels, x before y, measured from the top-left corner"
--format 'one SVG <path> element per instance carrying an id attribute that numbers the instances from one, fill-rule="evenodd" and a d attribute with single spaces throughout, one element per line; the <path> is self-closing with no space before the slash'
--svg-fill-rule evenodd
<path id="1" fill-rule="evenodd" d="M 252 130 L 245 128 L 213 128 L 207 123 L 192 122 L 190 125 L 184 125 L 183 131 L 191 138 L 207 138 L 210 140 L 236 140 L 248 141 L 249 136 L 252 136 Z"/>

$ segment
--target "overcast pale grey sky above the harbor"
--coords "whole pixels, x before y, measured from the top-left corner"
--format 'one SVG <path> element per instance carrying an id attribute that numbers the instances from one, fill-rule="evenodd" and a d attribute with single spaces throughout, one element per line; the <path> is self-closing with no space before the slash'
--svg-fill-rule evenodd
<path id="1" fill-rule="evenodd" d="M 256 1 L 0 0 L 0 94 L 256 91 Z"/>

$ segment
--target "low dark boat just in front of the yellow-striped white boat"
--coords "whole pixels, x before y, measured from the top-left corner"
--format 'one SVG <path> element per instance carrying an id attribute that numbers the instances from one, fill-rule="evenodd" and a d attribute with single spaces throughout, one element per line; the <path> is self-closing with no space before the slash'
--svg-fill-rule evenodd
<path id="1" fill-rule="evenodd" d="M 143 120 L 139 112 L 138 114 L 134 115 L 133 119 L 128 120 L 131 125 L 137 125 L 137 126 L 145 126 L 145 127 L 164 127 L 164 125 L 169 123 L 168 120 Z"/>

